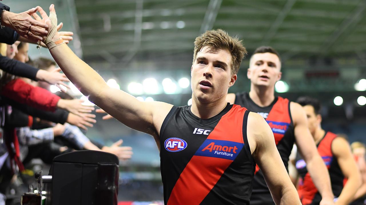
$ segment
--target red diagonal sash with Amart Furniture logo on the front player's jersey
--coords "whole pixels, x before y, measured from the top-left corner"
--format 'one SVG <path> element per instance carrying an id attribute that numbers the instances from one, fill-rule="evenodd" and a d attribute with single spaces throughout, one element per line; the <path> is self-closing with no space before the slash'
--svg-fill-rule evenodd
<path id="1" fill-rule="evenodd" d="M 207 196 L 243 148 L 245 111 L 245 108 L 233 105 L 231 110 L 221 117 L 180 174 L 170 194 L 168 205 L 200 204 Z"/>

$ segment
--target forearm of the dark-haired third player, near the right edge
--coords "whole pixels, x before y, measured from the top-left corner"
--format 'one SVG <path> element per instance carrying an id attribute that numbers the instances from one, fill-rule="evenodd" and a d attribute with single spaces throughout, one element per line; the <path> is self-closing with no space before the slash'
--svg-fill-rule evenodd
<path id="1" fill-rule="evenodd" d="M 355 173 L 356 175 L 358 173 Z M 341 194 L 338 197 L 337 204 L 350 204 L 353 201 L 358 187 L 361 185 L 359 177 L 351 175 L 348 177 L 346 185 L 344 185 Z"/>

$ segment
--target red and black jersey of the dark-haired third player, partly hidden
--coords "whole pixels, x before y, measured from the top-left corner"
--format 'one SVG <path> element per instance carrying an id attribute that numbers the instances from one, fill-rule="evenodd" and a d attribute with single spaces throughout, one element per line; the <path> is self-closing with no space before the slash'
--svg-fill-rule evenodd
<path id="1" fill-rule="evenodd" d="M 338 165 L 337 159 L 333 156 L 332 142 L 337 137 L 332 132 L 327 132 L 323 139 L 317 144 L 318 152 L 328 168 L 330 183 L 335 197 L 339 197 L 343 189 L 344 175 Z M 303 205 L 319 204 L 321 195 L 311 180 L 310 174 L 307 172 L 306 163 L 299 153 L 296 156 L 296 169 L 300 175 L 298 192 Z"/>

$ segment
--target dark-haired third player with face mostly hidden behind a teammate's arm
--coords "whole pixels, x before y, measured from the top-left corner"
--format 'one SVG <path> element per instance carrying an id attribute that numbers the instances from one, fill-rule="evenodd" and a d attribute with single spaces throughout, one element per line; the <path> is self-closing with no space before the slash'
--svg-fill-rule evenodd
<path id="1" fill-rule="evenodd" d="M 325 162 L 330 175 L 336 204 L 350 204 L 361 186 L 361 175 L 353 158 L 350 144 L 332 132 L 321 128 L 322 117 L 319 114 L 320 102 L 311 97 L 299 97 L 296 101 L 303 106 L 311 135 L 317 144 L 318 152 Z M 296 156 L 296 169 L 300 175 L 299 196 L 303 205 L 319 204 L 321 196 L 314 186 L 306 169 L 306 163 L 300 155 Z M 343 187 L 343 180 L 348 180 Z"/>

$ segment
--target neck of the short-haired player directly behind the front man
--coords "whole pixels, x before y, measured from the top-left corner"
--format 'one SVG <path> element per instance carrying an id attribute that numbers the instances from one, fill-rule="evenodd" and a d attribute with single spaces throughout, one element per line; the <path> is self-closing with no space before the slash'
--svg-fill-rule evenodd
<path id="1" fill-rule="evenodd" d="M 267 107 L 275 100 L 275 89 L 251 85 L 249 97 L 259 107 Z"/>

